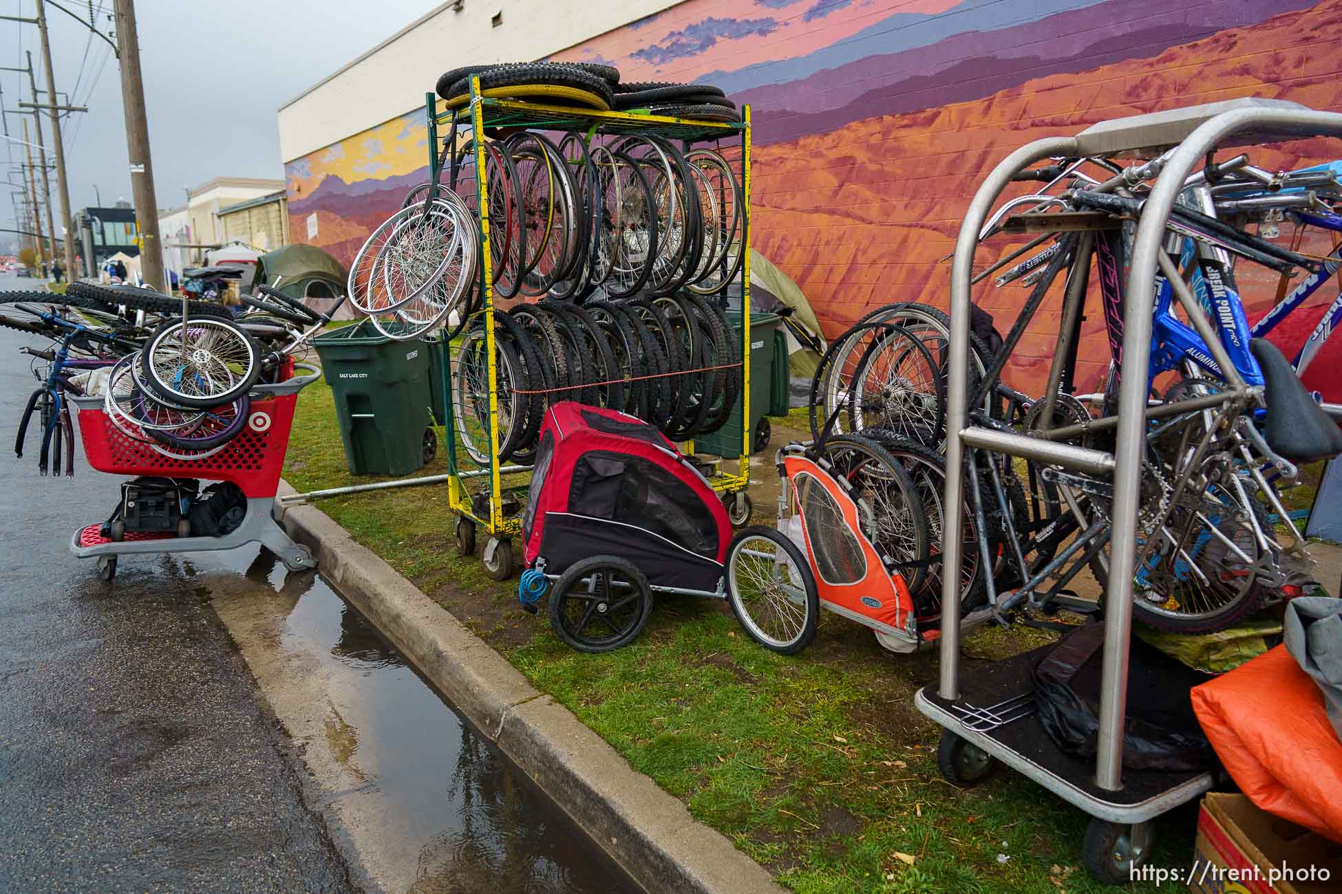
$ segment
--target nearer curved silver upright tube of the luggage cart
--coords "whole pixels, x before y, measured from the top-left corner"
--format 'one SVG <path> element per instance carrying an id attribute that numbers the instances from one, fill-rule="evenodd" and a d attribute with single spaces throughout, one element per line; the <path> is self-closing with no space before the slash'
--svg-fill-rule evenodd
<path id="1" fill-rule="evenodd" d="M 1127 307 L 1123 312 L 1123 363 L 1145 371 L 1151 348 L 1151 308 L 1155 300 L 1155 273 L 1165 222 L 1174 201 L 1208 151 L 1223 139 L 1249 127 L 1266 127 L 1283 139 L 1342 137 L 1342 114 L 1291 109 L 1241 109 L 1221 113 L 1201 123 L 1165 162 L 1155 186 L 1142 206 L 1133 240 L 1127 276 Z M 996 173 L 996 172 L 994 172 Z M 957 257 L 958 260 L 958 257 Z M 968 290 L 965 298 L 968 299 Z M 968 308 L 966 308 L 968 310 Z M 954 316 L 951 318 L 954 322 Z M 951 357 L 954 362 L 954 355 Z M 951 366 L 951 374 L 957 367 Z M 1127 709 L 1127 641 L 1133 627 L 1133 562 L 1137 554 L 1137 511 L 1139 505 L 1145 436 L 1146 375 L 1125 375 L 1118 391 L 1118 445 L 1114 469 L 1113 537 L 1110 544 L 1108 594 L 1104 606 L 1104 654 L 1100 677 L 1099 749 L 1095 756 L 1095 783 L 1110 791 L 1122 787 L 1123 716 Z M 1126 449 L 1125 449 L 1126 448 Z M 949 480 L 949 476 L 947 476 Z M 949 535 L 947 535 L 949 536 Z M 951 541 L 953 543 L 953 541 Z M 947 543 L 947 547 L 950 543 Z M 951 575 L 946 575 L 951 579 Z M 942 602 L 945 606 L 945 600 Z"/>

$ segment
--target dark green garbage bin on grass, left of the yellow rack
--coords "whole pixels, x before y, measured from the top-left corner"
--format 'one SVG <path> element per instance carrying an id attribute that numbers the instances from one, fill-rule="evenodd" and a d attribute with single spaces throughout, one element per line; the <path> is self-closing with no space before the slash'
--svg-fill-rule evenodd
<path id="1" fill-rule="evenodd" d="M 313 339 L 336 398 L 345 462 L 353 474 L 409 474 L 433 458 L 429 350 L 369 323 Z"/>

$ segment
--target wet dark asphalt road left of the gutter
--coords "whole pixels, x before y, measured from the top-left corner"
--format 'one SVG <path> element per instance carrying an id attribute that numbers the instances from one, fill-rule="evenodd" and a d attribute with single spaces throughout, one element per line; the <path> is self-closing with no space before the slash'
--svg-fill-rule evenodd
<path id="1" fill-rule="evenodd" d="M 102 583 L 68 541 L 117 478 L 13 458 L 27 342 L 0 330 L 0 890 L 349 890 L 192 563 Z"/>

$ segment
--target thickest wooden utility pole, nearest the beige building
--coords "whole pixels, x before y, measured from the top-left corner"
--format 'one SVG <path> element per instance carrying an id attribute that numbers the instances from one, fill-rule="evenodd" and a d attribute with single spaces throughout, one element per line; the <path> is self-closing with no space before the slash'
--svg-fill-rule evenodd
<path id="1" fill-rule="evenodd" d="M 149 158 L 149 117 L 145 113 L 145 83 L 140 72 L 140 36 L 136 34 L 134 0 L 115 0 L 117 55 L 121 59 L 121 101 L 126 113 L 126 149 L 130 155 L 130 186 L 136 198 L 140 229 L 140 272 L 145 283 L 160 292 L 164 280 L 162 241 L 158 239 L 158 201 L 154 198 L 154 169 Z M 42 9 L 42 0 L 38 0 Z M 40 13 L 39 13 L 40 15 Z"/>

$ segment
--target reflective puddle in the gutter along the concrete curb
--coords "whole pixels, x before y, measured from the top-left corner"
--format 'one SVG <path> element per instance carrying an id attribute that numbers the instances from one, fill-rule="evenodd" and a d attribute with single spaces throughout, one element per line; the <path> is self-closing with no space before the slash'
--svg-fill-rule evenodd
<path id="1" fill-rule="evenodd" d="M 326 744 L 350 785 L 337 797 L 380 802 L 380 831 L 415 862 L 411 890 L 637 890 L 325 580 L 264 563 L 247 576 L 294 599 L 283 649 L 327 676 Z"/>

